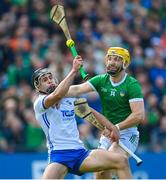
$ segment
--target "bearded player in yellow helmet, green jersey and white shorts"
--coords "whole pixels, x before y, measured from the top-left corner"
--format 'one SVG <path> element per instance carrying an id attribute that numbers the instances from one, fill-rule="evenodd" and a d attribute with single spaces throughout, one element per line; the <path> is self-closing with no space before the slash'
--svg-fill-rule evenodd
<path id="1" fill-rule="evenodd" d="M 71 86 L 68 95 L 97 91 L 103 115 L 116 125 L 120 131 L 120 140 L 134 152 L 139 141 L 137 125 L 144 119 L 144 101 L 139 82 L 126 73 L 129 64 L 130 54 L 127 49 L 110 47 L 105 56 L 107 72 L 80 85 Z M 116 142 L 104 136 L 100 138 L 99 148 L 126 154 Z M 114 170 L 99 172 L 95 178 L 112 178 L 114 173 Z"/>

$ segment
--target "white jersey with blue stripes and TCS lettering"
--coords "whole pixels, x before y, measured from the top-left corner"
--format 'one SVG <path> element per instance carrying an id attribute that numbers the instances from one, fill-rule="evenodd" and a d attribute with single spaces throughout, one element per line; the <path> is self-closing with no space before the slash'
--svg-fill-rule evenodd
<path id="1" fill-rule="evenodd" d="M 58 103 L 58 107 L 45 109 L 45 97 L 46 95 L 39 95 L 34 102 L 34 110 L 46 135 L 48 152 L 84 148 L 75 120 L 75 98 L 64 98 Z"/>

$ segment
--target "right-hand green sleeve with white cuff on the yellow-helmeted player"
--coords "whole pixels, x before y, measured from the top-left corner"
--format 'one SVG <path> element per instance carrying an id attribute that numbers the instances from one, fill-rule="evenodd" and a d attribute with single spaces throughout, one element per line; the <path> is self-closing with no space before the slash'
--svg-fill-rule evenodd
<path id="1" fill-rule="evenodd" d="M 138 81 L 132 82 L 128 89 L 129 100 L 131 99 L 143 99 L 142 88 Z"/>

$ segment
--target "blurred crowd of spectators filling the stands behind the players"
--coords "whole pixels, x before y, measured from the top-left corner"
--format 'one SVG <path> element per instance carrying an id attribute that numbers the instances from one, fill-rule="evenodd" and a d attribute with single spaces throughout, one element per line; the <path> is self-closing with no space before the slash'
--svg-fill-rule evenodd
<path id="1" fill-rule="evenodd" d="M 49 18 L 57 0 L 1 0 L 0 3 L 0 152 L 46 151 L 33 112 L 31 83 L 37 68 L 50 68 L 62 80 L 72 55 L 65 37 Z M 138 151 L 166 151 L 166 1 L 63 0 L 67 23 L 85 70 L 104 73 L 110 46 L 131 53 L 128 73 L 142 85 L 146 117 L 139 126 Z M 80 83 L 78 75 L 74 83 Z M 99 97 L 86 95 L 101 111 Z M 111 106 L 111 105 L 110 105 Z M 99 132 L 78 119 L 87 148 L 96 148 Z"/>

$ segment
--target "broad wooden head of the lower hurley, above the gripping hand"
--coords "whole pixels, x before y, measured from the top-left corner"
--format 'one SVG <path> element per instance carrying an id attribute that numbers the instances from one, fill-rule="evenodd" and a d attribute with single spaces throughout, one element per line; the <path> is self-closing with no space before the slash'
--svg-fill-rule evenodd
<path id="1" fill-rule="evenodd" d="M 91 112 L 91 109 L 85 98 L 80 98 L 74 102 L 74 111 L 78 117 L 87 120 L 89 123 L 93 124 L 95 127 L 99 128 L 100 130 L 105 129 L 103 125 L 101 125 L 99 122 L 96 121 L 96 118 Z"/>

